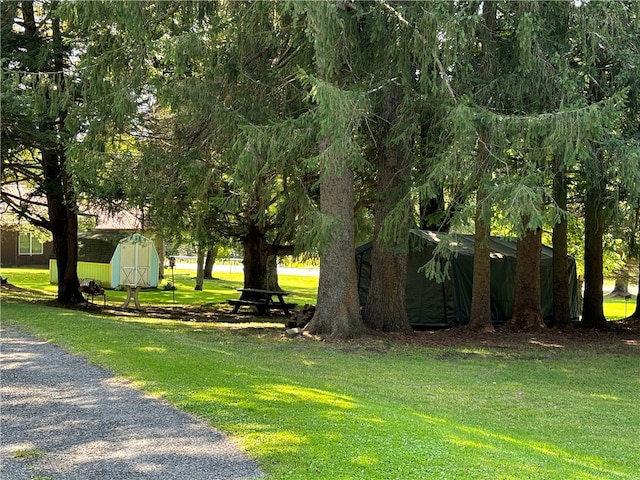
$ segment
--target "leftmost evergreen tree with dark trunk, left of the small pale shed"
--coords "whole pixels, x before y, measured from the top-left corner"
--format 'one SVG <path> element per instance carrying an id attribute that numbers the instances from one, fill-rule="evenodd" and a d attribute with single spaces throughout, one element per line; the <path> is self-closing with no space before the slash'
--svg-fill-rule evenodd
<path id="1" fill-rule="evenodd" d="M 52 233 L 57 298 L 73 303 L 82 294 L 77 196 L 66 147 L 76 140 L 69 109 L 79 92 L 70 32 L 57 7 L 55 1 L 2 2 L 2 199 L 20 218 Z"/>

